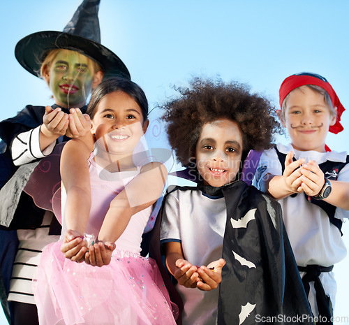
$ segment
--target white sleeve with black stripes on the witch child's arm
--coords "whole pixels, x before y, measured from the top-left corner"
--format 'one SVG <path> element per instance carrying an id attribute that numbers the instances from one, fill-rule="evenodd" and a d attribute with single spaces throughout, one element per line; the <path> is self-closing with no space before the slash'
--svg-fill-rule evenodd
<path id="1" fill-rule="evenodd" d="M 20 133 L 13 139 L 10 150 L 15 166 L 20 166 L 43 158 L 53 151 L 56 141 L 46 147 L 45 150 L 41 151 L 39 136 L 40 126 Z"/>

